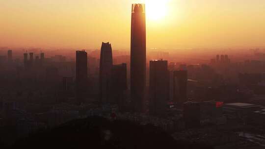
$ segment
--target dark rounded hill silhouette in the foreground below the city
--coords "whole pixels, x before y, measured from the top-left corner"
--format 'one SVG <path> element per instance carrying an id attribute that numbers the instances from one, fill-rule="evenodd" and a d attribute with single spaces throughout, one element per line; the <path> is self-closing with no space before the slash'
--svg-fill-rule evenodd
<path id="1" fill-rule="evenodd" d="M 74 120 L 18 141 L 13 149 L 212 149 L 176 142 L 152 125 L 93 117 Z"/>

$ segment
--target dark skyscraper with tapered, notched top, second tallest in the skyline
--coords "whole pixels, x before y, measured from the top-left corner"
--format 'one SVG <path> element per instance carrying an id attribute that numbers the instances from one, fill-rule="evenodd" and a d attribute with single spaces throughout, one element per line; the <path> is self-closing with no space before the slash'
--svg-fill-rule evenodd
<path id="1" fill-rule="evenodd" d="M 112 68 L 111 44 L 102 43 L 100 52 L 100 102 L 110 102 L 110 76 Z"/>

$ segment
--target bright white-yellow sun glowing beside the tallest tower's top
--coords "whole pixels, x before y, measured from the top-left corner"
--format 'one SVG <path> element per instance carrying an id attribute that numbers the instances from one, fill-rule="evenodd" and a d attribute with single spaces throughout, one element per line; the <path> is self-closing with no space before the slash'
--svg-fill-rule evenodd
<path id="1" fill-rule="evenodd" d="M 169 0 L 145 0 L 146 16 L 149 20 L 157 21 L 168 13 Z"/>

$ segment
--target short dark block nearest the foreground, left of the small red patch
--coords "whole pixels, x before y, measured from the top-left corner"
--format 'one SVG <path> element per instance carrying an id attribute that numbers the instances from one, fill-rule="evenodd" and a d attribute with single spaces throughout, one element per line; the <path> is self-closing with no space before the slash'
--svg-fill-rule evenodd
<path id="1" fill-rule="evenodd" d="M 186 128 L 199 127 L 201 123 L 201 107 L 199 102 L 183 103 L 183 117 Z"/>

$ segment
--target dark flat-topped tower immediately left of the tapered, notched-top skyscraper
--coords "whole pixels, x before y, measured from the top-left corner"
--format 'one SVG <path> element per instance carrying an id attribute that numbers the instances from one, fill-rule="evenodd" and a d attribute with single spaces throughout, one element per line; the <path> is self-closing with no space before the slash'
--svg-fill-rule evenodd
<path id="1" fill-rule="evenodd" d="M 76 51 L 76 89 L 78 102 L 84 100 L 87 83 L 87 53 L 84 50 Z"/>

